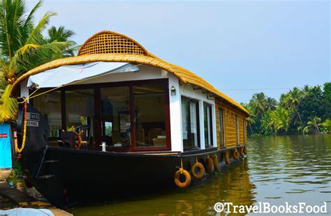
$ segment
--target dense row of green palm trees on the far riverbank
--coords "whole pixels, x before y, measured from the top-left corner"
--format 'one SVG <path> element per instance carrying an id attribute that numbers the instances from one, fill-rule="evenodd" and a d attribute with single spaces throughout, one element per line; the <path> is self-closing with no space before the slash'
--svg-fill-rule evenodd
<path id="1" fill-rule="evenodd" d="M 256 93 L 244 107 L 251 114 L 251 134 L 331 132 L 330 103 L 331 82 L 326 82 L 323 91 L 321 86 L 295 87 L 282 93 L 278 103 Z"/>

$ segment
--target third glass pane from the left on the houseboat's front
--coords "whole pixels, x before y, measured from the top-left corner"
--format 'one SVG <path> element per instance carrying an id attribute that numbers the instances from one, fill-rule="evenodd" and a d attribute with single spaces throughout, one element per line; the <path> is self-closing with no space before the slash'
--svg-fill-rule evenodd
<path id="1" fill-rule="evenodd" d="M 128 86 L 101 88 L 102 141 L 108 146 L 131 146 Z"/>

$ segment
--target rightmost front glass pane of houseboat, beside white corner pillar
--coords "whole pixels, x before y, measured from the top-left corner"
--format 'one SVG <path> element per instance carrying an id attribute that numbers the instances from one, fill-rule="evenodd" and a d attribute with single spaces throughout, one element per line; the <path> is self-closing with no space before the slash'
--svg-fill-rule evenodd
<path id="1" fill-rule="evenodd" d="M 165 86 L 165 84 L 133 86 L 135 147 L 167 146 Z"/>

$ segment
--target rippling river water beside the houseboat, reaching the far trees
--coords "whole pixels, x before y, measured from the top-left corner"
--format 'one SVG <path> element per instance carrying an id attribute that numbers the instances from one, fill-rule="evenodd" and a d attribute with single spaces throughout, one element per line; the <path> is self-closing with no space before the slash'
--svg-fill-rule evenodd
<path id="1" fill-rule="evenodd" d="M 321 206 L 326 201 L 331 213 L 331 134 L 254 137 L 249 139 L 248 151 L 245 160 L 186 190 L 76 206 L 69 211 L 74 215 L 215 215 L 216 202 Z"/>

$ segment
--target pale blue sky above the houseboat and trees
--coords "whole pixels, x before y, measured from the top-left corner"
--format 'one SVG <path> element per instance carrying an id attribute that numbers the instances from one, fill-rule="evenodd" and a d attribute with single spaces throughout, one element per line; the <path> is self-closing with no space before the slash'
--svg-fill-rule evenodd
<path id="1" fill-rule="evenodd" d="M 78 44 L 102 30 L 123 33 L 249 102 L 261 91 L 278 100 L 294 86 L 330 82 L 330 8 L 317 0 L 45 0 L 36 20 L 56 12 L 50 25 L 75 31 Z"/>

